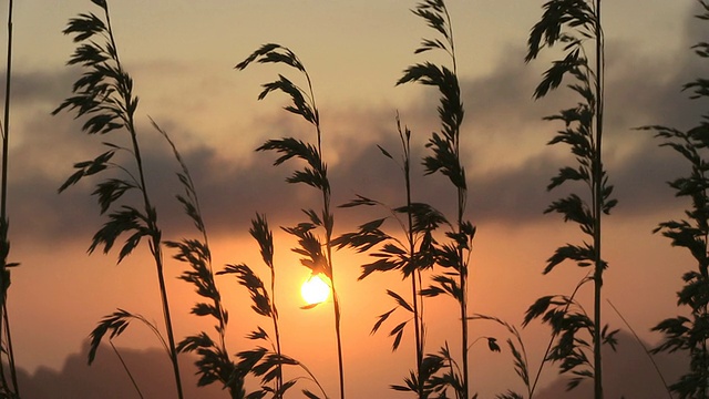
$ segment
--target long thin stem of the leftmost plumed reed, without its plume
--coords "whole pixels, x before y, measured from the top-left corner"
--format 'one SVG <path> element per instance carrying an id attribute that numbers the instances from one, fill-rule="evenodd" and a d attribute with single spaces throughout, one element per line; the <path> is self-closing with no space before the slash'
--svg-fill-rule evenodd
<path id="1" fill-rule="evenodd" d="M 104 3 L 104 6 L 105 6 L 104 10 L 106 13 L 106 25 L 107 25 L 106 28 L 109 32 L 109 38 L 115 51 L 115 62 L 116 62 L 117 70 L 122 72 L 123 68 L 121 66 L 117 45 L 113 37 L 113 29 L 111 27 L 111 17 L 109 14 L 107 2 Z M 167 330 L 167 341 L 169 345 L 169 358 L 173 364 L 173 372 L 175 376 L 175 386 L 177 388 L 177 397 L 179 399 L 183 399 L 184 395 L 182 389 L 182 378 L 179 376 L 179 365 L 177 362 L 177 350 L 175 349 L 176 348 L 175 337 L 173 332 L 172 318 L 169 316 L 167 288 L 165 285 L 163 253 L 161 247 L 161 232 L 160 232 L 160 228 L 157 227 L 157 214 L 155 213 L 155 209 L 151 205 L 150 197 L 147 195 L 147 186 L 145 183 L 145 175 L 143 171 L 143 160 L 141 157 L 141 150 L 137 143 L 137 134 L 136 134 L 135 123 L 134 123 L 134 115 L 133 115 L 134 106 L 132 106 L 132 102 L 133 102 L 132 93 L 130 88 L 127 88 L 127 85 L 125 84 L 124 79 L 120 79 L 120 88 L 122 89 L 120 90 L 120 92 L 121 92 L 121 95 L 123 96 L 123 103 L 126 105 L 125 106 L 126 108 L 125 111 L 127 113 L 126 127 L 129 130 L 129 133 L 131 134 L 131 141 L 133 144 L 133 153 L 135 156 L 135 163 L 138 172 L 140 188 L 143 194 L 143 205 L 145 208 L 145 216 L 147 219 L 147 229 L 151 232 L 150 249 L 155 260 L 155 267 L 157 270 L 157 280 L 160 285 L 161 300 L 163 305 L 163 316 L 165 318 L 165 329 Z"/>

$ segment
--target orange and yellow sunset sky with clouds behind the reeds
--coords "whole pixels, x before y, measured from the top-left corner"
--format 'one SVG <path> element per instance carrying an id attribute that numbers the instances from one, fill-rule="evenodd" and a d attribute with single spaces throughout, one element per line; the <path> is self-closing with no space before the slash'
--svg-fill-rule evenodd
<path id="1" fill-rule="evenodd" d="M 479 232 L 471 269 L 471 311 L 517 326 L 538 296 L 568 294 L 586 273 L 561 265 L 551 275 L 542 275 L 545 259 L 557 246 L 579 238 L 575 226 L 565 225 L 556 215 L 543 215 L 561 195 L 545 191 L 548 180 L 569 158 L 566 149 L 545 145 L 559 126 L 542 117 L 575 101 L 563 91 L 544 100 L 532 99 L 552 59 L 549 54 L 530 64 L 523 62 L 528 31 L 541 17 L 543 3 L 449 4 L 466 111 L 462 151 L 470 187 L 467 217 Z M 257 101 L 261 83 L 291 71 L 273 65 L 234 70 L 268 42 L 292 49 L 314 80 L 333 203 L 345 203 L 356 194 L 401 203 L 398 166 L 381 156 L 377 145 L 397 151 L 394 116 L 399 112 L 413 132 L 414 155 L 421 157 L 427 137 L 436 129 L 438 93 L 394 83 L 414 62 L 444 61 L 436 54 L 413 54 L 420 39 L 431 35 L 424 22 L 409 12 L 414 4 L 400 0 L 112 2 L 122 62 L 141 98 L 140 140 L 164 235 L 177 239 L 196 232 L 174 201 L 181 191 L 174 177 L 178 165 L 151 129 L 148 116 L 168 131 L 191 167 L 217 267 L 244 262 L 265 275 L 248 236 L 250 218 L 256 212 L 266 213 L 277 229 L 298 222 L 299 209 L 317 201 L 308 188 L 284 182 L 291 165 L 274 167 L 273 154 L 254 152 L 268 139 L 314 139 L 309 125 L 281 110 L 285 98 Z M 82 350 L 101 317 L 115 308 L 154 320 L 162 316 L 147 248 L 140 248 L 120 265 L 115 253 L 86 254 L 103 221 L 90 195 L 91 182 L 56 193 L 72 173 L 72 164 L 92 158 L 101 149 L 101 139 L 81 133 L 81 121 L 71 114 L 50 115 L 70 95 L 80 73 L 65 66 L 73 44 L 61 31 L 70 18 L 99 9 L 88 0 L 50 4 L 25 0 L 14 6 L 8 209 L 11 260 L 22 265 L 13 270 L 9 305 L 17 361 L 34 372 L 61 369 L 68 357 Z M 604 6 L 605 163 L 619 200 L 613 215 L 604 219 L 609 263 L 604 295 L 650 345 L 659 336 L 649 329 L 681 311 L 676 308 L 675 293 L 681 287 L 681 274 L 692 267 L 687 254 L 651 234 L 658 223 L 681 217 L 688 205 L 675 198 L 665 183 L 686 173 L 687 166 L 669 150 L 658 147 L 650 133 L 634 127 L 657 123 L 686 129 L 702 113 L 702 103 L 680 92 L 685 82 L 703 71 L 690 51 L 708 32 L 692 18 L 698 11 L 693 1 L 648 0 L 641 10 L 631 0 Z M 7 20 L 4 4 L 0 18 Z M 4 43 L 7 33 L 0 34 Z M 0 47 L 0 53 L 4 50 Z M 450 184 L 439 176 L 418 177 L 414 195 L 442 209 L 453 202 Z M 352 231 L 370 217 L 337 209 L 336 234 Z M 289 250 L 292 239 L 278 232 L 276 238 L 285 348 L 311 365 L 335 395 L 330 306 L 299 309 L 298 289 L 308 270 Z M 348 393 L 388 392 L 387 386 L 397 383 L 413 359 L 407 350 L 390 354 L 386 334 L 370 336 L 369 331 L 376 316 L 389 308 L 384 290 L 404 286 L 394 275 L 357 282 L 358 265 L 366 257 L 342 250 L 335 258 L 341 284 Z M 178 337 L 212 328 L 188 315 L 197 296 L 174 278 L 183 268 L 172 262 L 167 273 Z M 236 352 L 249 345 L 243 336 L 267 320 L 250 313 L 248 296 L 235 280 L 222 278 L 218 284 L 228 299 L 229 347 Z M 587 294 L 583 294 L 585 299 Z M 430 350 L 445 339 L 455 345 L 456 337 L 449 334 L 458 326 L 454 304 L 436 299 L 430 309 Z M 604 319 L 626 328 L 609 306 L 604 307 Z M 522 334 L 531 362 L 538 365 L 548 339 L 546 328 L 533 324 Z M 506 338 L 494 326 L 471 324 L 472 340 L 487 335 Z M 156 346 L 138 326 L 115 344 L 135 350 Z M 407 344 L 411 344 L 410 336 L 404 337 L 402 348 Z M 521 389 L 508 354 L 490 354 L 483 345 L 475 345 L 471 361 L 472 383 L 481 397 Z M 548 368 L 542 380 L 548 385 L 555 377 Z"/>

